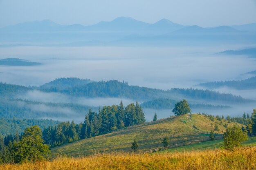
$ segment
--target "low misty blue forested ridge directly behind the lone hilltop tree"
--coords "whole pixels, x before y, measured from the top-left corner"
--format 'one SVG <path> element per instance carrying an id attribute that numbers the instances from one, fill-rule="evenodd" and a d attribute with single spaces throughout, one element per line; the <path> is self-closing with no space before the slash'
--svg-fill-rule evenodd
<path id="1" fill-rule="evenodd" d="M 142 108 L 152 109 L 173 109 L 177 101 L 173 99 L 153 99 L 144 103 L 141 103 Z M 211 104 L 189 104 L 191 108 L 230 108 L 229 106 L 211 105 Z"/>

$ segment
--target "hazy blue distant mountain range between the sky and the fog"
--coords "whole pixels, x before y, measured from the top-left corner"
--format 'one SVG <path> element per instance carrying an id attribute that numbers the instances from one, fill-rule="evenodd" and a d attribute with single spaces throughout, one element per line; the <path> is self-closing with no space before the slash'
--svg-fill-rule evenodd
<path id="1" fill-rule="evenodd" d="M 25 22 L 0 28 L 1 46 L 126 46 L 256 43 L 256 24 L 202 28 L 173 23 L 154 24 L 119 17 L 91 26 L 60 25 L 51 20 Z"/>

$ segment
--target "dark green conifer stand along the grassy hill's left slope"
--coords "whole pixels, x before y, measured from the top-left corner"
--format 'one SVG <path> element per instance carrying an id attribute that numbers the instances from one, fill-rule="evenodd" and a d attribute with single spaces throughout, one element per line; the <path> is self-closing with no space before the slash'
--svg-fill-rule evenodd
<path id="1" fill-rule="evenodd" d="M 124 108 L 121 101 L 119 105 L 103 106 L 99 112 L 89 110 L 81 124 L 67 121 L 49 126 L 43 130 L 43 139 L 47 145 L 53 147 L 144 122 L 145 115 L 138 102 Z"/>

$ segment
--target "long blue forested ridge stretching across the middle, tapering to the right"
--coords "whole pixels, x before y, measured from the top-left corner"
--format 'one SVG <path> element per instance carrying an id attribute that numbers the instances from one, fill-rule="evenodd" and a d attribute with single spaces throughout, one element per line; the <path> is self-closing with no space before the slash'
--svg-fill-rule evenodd
<path id="1" fill-rule="evenodd" d="M 164 91 L 155 88 L 129 86 L 127 82 L 118 82 L 117 80 L 92 82 L 84 86 L 66 88 L 65 90 L 45 89 L 44 91 L 54 91 L 77 97 L 123 97 L 138 100 L 150 100 L 157 98 L 180 100 L 186 98 L 198 100 L 207 99 L 209 101 L 251 102 L 251 100 L 243 99 L 240 96 L 223 94 L 216 91 L 193 88 L 172 88 Z"/>

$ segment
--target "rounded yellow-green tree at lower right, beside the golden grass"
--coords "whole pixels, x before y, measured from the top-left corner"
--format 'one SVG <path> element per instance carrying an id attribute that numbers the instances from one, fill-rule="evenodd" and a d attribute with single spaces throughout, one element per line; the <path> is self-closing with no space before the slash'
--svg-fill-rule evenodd
<path id="1" fill-rule="evenodd" d="M 228 127 L 224 133 L 224 147 L 226 150 L 234 150 L 242 141 L 248 139 L 247 131 L 243 132 L 236 124 Z"/>

